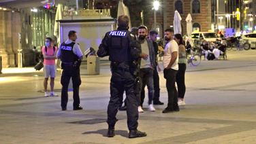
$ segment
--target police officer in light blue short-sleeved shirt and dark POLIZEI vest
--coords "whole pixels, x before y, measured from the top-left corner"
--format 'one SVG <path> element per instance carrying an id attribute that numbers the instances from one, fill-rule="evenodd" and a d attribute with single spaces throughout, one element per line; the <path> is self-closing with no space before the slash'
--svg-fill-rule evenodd
<path id="1" fill-rule="evenodd" d="M 83 57 L 80 46 L 76 43 L 77 35 L 76 31 L 69 31 L 69 39 L 61 43 L 58 50 L 57 57 L 61 59 L 61 69 L 63 69 L 61 75 L 61 107 L 65 111 L 67 109 L 67 90 L 69 86 L 70 78 L 72 78 L 73 84 L 73 110 L 80 110 L 80 98 L 79 98 L 79 86 L 81 84 L 80 79 L 80 64 Z"/>

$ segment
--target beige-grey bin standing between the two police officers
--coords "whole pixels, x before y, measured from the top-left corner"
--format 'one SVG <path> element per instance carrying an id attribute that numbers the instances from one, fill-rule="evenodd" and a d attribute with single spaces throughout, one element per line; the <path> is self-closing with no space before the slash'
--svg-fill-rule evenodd
<path id="1" fill-rule="evenodd" d="M 99 57 L 91 55 L 87 57 L 88 75 L 99 75 Z"/>

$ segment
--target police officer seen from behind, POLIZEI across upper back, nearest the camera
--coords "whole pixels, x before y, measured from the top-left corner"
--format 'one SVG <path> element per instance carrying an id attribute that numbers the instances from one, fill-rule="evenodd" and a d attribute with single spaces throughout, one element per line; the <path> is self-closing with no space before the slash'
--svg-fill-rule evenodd
<path id="1" fill-rule="evenodd" d="M 140 57 L 138 45 L 134 36 L 128 31 L 128 16 L 118 17 L 118 29 L 106 33 L 97 55 L 99 57 L 109 56 L 111 61 L 112 77 L 110 82 L 110 102 L 108 104 L 108 137 L 114 137 L 114 126 L 116 124 L 116 113 L 123 99 L 123 90 L 127 96 L 127 124 L 129 138 L 146 137 L 145 132 L 138 128 L 138 101 L 135 94 L 135 75 L 137 70 L 133 61 Z"/>

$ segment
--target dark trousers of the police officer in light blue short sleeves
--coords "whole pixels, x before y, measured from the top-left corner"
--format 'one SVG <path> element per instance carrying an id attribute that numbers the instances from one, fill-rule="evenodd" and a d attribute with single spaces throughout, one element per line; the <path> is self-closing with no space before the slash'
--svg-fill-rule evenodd
<path id="1" fill-rule="evenodd" d="M 73 107 L 78 107 L 80 105 L 80 98 L 79 98 L 79 86 L 81 84 L 80 79 L 80 68 L 74 67 L 73 65 L 62 65 L 63 72 L 61 75 L 61 107 L 67 107 L 67 90 L 69 86 L 70 78 L 72 78 L 73 84 Z"/>

